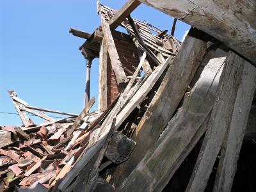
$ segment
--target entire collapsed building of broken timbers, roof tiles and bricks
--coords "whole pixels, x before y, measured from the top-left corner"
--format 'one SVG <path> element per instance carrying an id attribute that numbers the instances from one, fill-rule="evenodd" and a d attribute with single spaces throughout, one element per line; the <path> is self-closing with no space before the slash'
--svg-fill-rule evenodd
<path id="1" fill-rule="evenodd" d="M 175 22 L 170 33 L 133 19 L 140 3 L 190 24 L 184 42 Z M 80 114 L 31 106 L 9 90 L 22 125 L 0 127 L 0 191 L 255 191 L 255 6 L 129 0 L 116 11 L 98 3 L 101 26 L 70 28 L 86 39 Z M 99 107 L 90 112 L 94 58 Z"/>

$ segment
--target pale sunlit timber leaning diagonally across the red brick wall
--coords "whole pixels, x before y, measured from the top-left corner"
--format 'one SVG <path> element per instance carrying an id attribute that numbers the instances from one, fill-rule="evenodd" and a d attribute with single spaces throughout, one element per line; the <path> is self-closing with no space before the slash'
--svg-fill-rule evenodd
<path id="1" fill-rule="evenodd" d="M 101 24 L 102 24 L 102 31 L 104 33 L 104 40 L 106 41 L 106 45 L 108 47 L 108 54 L 111 60 L 111 66 L 115 72 L 116 81 L 118 84 L 124 84 L 127 82 L 124 68 L 122 67 L 122 63 L 118 56 L 118 52 L 116 51 L 115 42 L 111 34 L 109 24 L 106 22 L 103 15 L 101 15 Z"/>

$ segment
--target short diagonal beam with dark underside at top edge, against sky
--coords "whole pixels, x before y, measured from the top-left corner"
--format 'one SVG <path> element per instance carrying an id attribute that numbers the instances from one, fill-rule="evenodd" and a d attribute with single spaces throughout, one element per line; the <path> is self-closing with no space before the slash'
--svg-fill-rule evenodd
<path id="1" fill-rule="evenodd" d="M 124 6 L 115 13 L 112 19 L 109 21 L 110 29 L 117 28 L 125 18 L 131 14 L 141 3 L 138 0 L 129 0 Z"/>

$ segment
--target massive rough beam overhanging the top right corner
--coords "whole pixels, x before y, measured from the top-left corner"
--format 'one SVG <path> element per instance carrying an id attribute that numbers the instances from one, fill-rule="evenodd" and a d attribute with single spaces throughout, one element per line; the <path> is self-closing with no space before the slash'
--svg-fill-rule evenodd
<path id="1" fill-rule="evenodd" d="M 205 31 L 256 64 L 255 1 L 139 1 Z"/>

